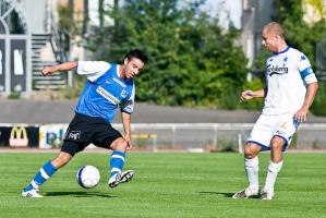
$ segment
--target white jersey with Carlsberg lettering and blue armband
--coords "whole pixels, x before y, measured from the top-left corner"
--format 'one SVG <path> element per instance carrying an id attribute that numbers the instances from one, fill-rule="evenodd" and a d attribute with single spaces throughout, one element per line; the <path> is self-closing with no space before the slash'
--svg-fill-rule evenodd
<path id="1" fill-rule="evenodd" d="M 266 62 L 267 96 L 263 114 L 294 113 L 303 105 L 306 85 L 317 82 L 307 58 L 288 47 Z"/>

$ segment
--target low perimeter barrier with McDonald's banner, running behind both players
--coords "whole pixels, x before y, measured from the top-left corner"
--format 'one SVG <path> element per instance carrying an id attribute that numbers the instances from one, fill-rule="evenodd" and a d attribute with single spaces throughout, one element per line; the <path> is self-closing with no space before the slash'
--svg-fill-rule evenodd
<path id="1" fill-rule="evenodd" d="M 122 124 L 113 124 L 119 131 Z M 242 152 L 252 123 L 135 123 L 135 149 Z M 0 124 L 0 147 L 59 148 L 68 123 Z M 302 124 L 291 143 L 292 149 L 326 148 L 326 123 Z M 90 146 L 92 147 L 92 146 Z"/>

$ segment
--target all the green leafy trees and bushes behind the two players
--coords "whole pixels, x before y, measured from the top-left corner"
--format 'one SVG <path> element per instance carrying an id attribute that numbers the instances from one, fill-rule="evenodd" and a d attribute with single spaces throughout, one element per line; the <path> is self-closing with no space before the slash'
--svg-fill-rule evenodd
<path id="1" fill-rule="evenodd" d="M 273 20 L 283 24 L 290 45 L 302 50 L 314 64 L 314 46 L 325 37 L 325 20 L 305 24 L 302 1 L 275 0 Z M 246 81 L 251 69 L 246 69 L 247 60 L 239 44 L 240 32 L 232 24 L 228 31 L 221 29 L 217 19 L 200 9 L 203 0 L 124 0 L 119 7 L 119 1 L 114 2 L 110 10 L 102 7 L 99 10 L 101 21 L 104 16 L 111 17 L 113 25 L 104 26 L 101 22 L 83 38 L 95 60 L 121 62 L 132 48 L 148 55 L 149 62 L 136 78 L 138 101 L 262 108 L 262 99 L 239 104 L 241 90 L 262 88 L 264 78 Z M 264 71 L 265 59 L 270 53 L 263 50 L 261 53 L 253 68 Z M 317 114 L 326 113 L 325 87 L 322 88 L 324 97 L 318 95 L 313 106 Z"/>

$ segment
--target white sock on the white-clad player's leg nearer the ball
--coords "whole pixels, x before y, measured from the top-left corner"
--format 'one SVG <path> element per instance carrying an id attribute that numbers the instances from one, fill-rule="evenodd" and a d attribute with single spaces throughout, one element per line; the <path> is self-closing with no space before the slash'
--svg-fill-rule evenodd
<path id="1" fill-rule="evenodd" d="M 246 178 L 249 181 L 249 187 L 253 191 L 258 192 L 259 190 L 259 179 L 258 179 L 258 171 L 259 171 L 259 161 L 258 157 L 254 157 L 252 159 L 244 158 L 244 168 L 246 172 Z"/>

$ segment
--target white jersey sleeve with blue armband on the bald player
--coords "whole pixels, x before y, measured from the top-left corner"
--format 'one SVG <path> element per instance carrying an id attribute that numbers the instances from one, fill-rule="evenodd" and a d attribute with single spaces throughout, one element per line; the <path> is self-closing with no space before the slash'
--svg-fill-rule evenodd
<path id="1" fill-rule="evenodd" d="M 309 59 L 301 53 L 300 55 L 300 60 L 298 60 L 298 70 L 300 72 L 300 75 L 302 77 L 302 80 L 306 83 L 306 84 L 311 84 L 311 83 L 315 83 L 317 82 L 316 75 L 310 64 Z"/>

